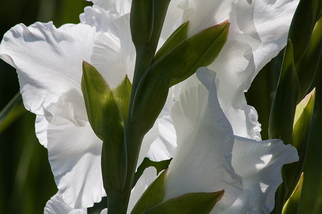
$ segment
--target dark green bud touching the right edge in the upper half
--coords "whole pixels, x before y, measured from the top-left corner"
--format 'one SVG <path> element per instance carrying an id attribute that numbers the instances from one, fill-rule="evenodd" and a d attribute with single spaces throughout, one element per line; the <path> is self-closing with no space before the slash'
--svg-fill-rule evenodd
<path id="1" fill-rule="evenodd" d="M 322 3 L 322 1 L 320 1 Z M 322 5 L 322 4 L 321 4 Z M 302 54 L 295 68 L 301 84 L 302 99 L 314 80 L 315 73 L 322 53 L 322 17 L 314 26 L 307 49 Z"/>

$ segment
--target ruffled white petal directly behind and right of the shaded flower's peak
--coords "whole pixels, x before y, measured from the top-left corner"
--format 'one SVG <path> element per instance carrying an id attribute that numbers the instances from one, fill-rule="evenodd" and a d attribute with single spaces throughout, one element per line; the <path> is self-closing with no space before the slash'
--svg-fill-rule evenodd
<path id="1" fill-rule="evenodd" d="M 247 105 L 244 94 L 251 86 L 255 71 L 250 46 L 235 40 L 229 42 L 209 68 L 217 74 L 219 103 L 234 134 L 261 140 L 258 114 L 254 107 Z"/>

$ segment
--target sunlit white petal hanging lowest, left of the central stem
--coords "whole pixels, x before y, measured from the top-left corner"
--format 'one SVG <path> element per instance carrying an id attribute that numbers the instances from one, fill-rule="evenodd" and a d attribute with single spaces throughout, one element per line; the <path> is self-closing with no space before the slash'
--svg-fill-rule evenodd
<path id="1" fill-rule="evenodd" d="M 89 123 L 48 124 L 48 156 L 64 201 L 71 207 L 93 206 L 106 195 L 101 171 L 102 141 Z"/>

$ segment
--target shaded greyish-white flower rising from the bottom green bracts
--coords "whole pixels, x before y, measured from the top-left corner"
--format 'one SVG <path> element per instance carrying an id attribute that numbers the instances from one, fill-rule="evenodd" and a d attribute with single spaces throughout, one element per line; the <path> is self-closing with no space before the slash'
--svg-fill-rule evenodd
<path id="1" fill-rule="evenodd" d="M 281 168 L 298 160 L 296 149 L 278 139 L 233 135 L 217 99 L 216 85 L 221 82 L 216 73 L 200 68 L 197 76 L 202 84 L 190 81 L 172 109 L 178 147 L 164 200 L 224 189 L 211 213 L 269 213 L 282 182 Z"/>

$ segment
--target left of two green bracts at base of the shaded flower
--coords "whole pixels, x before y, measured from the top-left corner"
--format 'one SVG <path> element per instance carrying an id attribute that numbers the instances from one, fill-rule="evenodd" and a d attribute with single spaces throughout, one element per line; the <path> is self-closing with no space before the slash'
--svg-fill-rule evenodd
<path id="1" fill-rule="evenodd" d="M 165 196 L 166 176 L 168 169 L 164 170 L 144 191 L 133 207 L 131 214 L 141 214 L 148 208 L 162 202 Z"/>

